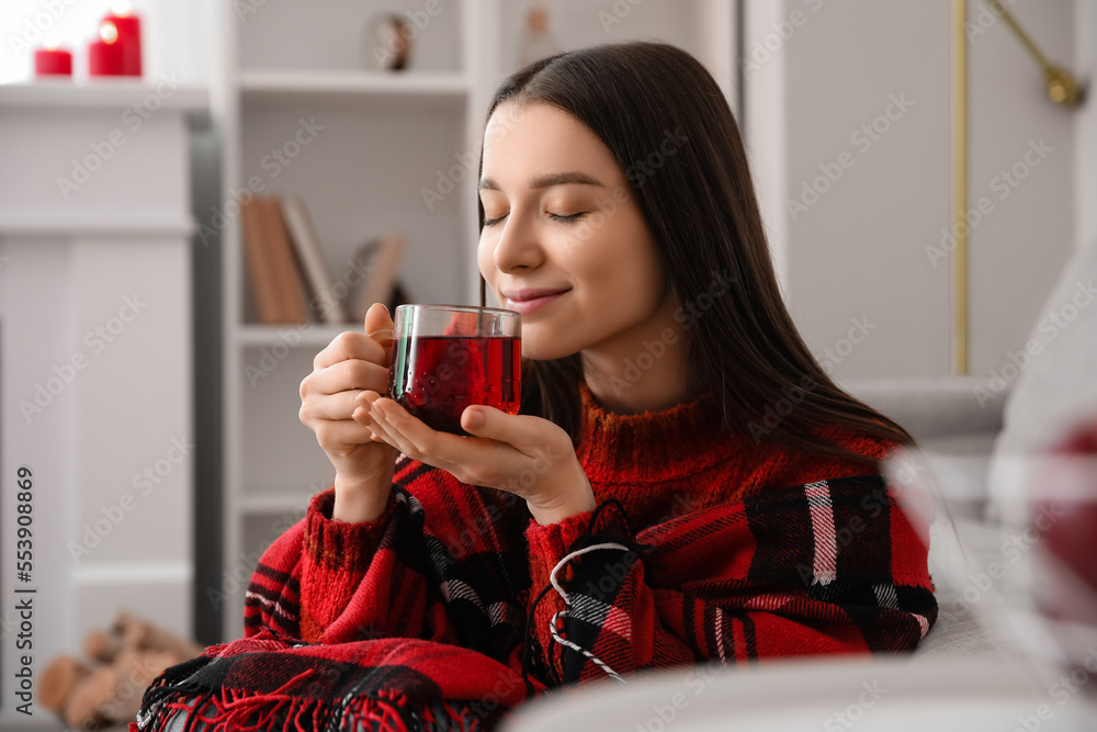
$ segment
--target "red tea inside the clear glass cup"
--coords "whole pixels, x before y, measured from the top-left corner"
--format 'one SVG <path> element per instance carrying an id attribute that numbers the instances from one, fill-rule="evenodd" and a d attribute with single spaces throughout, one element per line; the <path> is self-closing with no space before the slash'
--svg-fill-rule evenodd
<path id="1" fill-rule="evenodd" d="M 518 414 L 521 353 L 512 336 L 398 338 L 388 395 L 433 429 L 467 435 L 461 413 L 470 404 Z"/>

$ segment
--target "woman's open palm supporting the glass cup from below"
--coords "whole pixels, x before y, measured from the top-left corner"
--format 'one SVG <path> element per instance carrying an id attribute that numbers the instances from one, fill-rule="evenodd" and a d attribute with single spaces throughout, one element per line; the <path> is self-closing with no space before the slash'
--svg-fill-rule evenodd
<path id="1" fill-rule="evenodd" d="M 547 419 L 470 406 L 461 415 L 461 427 L 473 437 L 462 437 L 431 429 L 376 390 L 359 394 L 358 403 L 367 413 L 374 440 L 441 468 L 462 483 L 517 494 L 542 526 L 596 507 L 572 439 Z"/>

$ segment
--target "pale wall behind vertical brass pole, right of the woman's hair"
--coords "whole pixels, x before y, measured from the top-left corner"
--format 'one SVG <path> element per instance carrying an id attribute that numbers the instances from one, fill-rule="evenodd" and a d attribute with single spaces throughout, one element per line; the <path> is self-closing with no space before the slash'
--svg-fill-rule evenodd
<path id="1" fill-rule="evenodd" d="M 981 8 L 970 1 L 975 26 Z M 1013 10 L 1073 64 L 1073 0 Z M 1024 346 L 1076 226 L 1077 112 L 1048 101 L 993 20 L 968 44 L 969 206 L 986 198 L 992 212 L 969 239 L 969 372 L 983 376 Z M 842 347 L 829 359 L 842 379 L 950 374 L 952 262 L 927 247 L 948 254 L 952 223 L 951 0 L 747 0 L 745 26 L 748 145 L 801 333 L 823 360 Z M 1051 151 L 1004 196 L 996 179 L 1041 139 Z M 853 319 L 868 335 L 847 349 Z"/>

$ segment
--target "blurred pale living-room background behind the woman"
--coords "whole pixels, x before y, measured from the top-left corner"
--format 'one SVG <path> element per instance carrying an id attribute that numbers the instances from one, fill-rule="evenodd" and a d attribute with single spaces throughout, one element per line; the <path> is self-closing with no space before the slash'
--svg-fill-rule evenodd
<path id="1" fill-rule="evenodd" d="M 242 633 L 259 553 L 332 477 L 297 420 L 313 357 L 362 302 L 476 302 L 485 110 L 555 50 L 706 65 L 801 333 L 973 516 L 1013 510 L 988 476 L 1030 373 L 1059 429 L 1025 444 L 1097 410 L 1049 356 L 1095 330 L 1067 270 L 1097 116 L 1047 74 L 1092 79 L 1093 0 L 4 0 L 0 36 L 0 723 L 16 589 L 36 663 L 120 608 Z"/>

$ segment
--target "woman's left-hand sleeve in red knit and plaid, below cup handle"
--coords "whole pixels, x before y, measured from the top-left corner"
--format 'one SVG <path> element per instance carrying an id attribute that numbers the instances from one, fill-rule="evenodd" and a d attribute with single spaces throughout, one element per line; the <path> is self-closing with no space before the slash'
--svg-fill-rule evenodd
<path id="1" fill-rule="evenodd" d="M 521 642 L 525 575 L 508 571 L 498 507 L 479 491 L 402 455 L 373 521 L 332 520 L 335 491 L 318 494 L 260 560 L 246 634 L 267 628 L 326 644 L 415 638 L 504 658 Z"/>

